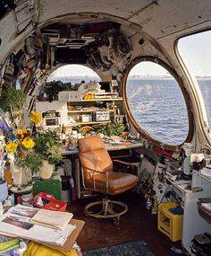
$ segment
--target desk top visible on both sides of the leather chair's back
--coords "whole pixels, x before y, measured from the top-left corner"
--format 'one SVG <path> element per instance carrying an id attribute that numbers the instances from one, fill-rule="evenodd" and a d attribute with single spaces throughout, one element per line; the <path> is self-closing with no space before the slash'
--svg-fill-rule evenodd
<path id="1" fill-rule="evenodd" d="M 143 146 L 142 143 L 139 142 L 122 142 L 122 143 L 110 143 L 110 144 L 105 144 L 105 148 L 108 151 L 115 151 L 115 150 L 122 150 L 122 149 L 131 149 L 131 148 L 138 148 Z M 79 151 L 78 149 L 75 150 L 63 150 L 62 154 L 63 155 L 68 155 L 68 154 L 78 154 Z"/>

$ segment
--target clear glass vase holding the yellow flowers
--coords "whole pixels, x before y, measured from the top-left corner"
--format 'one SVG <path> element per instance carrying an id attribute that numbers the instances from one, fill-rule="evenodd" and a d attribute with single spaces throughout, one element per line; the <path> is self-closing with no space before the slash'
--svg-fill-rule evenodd
<path id="1" fill-rule="evenodd" d="M 30 168 L 21 167 L 18 165 L 13 166 L 13 186 L 20 188 L 27 186 L 32 182 L 32 175 Z"/>

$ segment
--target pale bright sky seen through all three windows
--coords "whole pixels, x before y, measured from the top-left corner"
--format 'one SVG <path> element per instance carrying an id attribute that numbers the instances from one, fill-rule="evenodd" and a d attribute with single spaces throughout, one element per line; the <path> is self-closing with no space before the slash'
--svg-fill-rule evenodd
<path id="1" fill-rule="evenodd" d="M 179 40 L 178 47 L 181 57 L 194 75 L 211 76 L 211 31 L 191 35 Z M 89 67 L 66 65 L 55 70 L 51 79 L 56 76 L 97 76 Z M 164 67 L 156 63 L 144 61 L 134 66 L 129 75 L 169 75 Z"/>

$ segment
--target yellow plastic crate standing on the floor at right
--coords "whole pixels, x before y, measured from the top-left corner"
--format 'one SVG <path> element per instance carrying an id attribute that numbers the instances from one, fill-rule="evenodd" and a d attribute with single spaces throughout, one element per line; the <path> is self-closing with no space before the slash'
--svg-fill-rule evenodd
<path id="1" fill-rule="evenodd" d="M 174 215 L 170 208 L 177 207 L 175 202 L 165 202 L 158 206 L 157 227 L 166 234 L 173 242 L 181 240 L 182 215 Z"/>

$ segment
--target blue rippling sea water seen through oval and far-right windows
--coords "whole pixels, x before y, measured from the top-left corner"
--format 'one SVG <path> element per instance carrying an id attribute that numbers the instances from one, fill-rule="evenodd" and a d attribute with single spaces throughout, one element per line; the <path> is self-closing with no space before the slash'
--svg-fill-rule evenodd
<path id="1" fill-rule="evenodd" d="M 211 80 L 198 80 L 198 85 L 211 123 Z M 129 79 L 126 93 L 133 117 L 148 134 L 169 144 L 185 140 L 188 113 L 181 88 L 174 79 Z"/>

